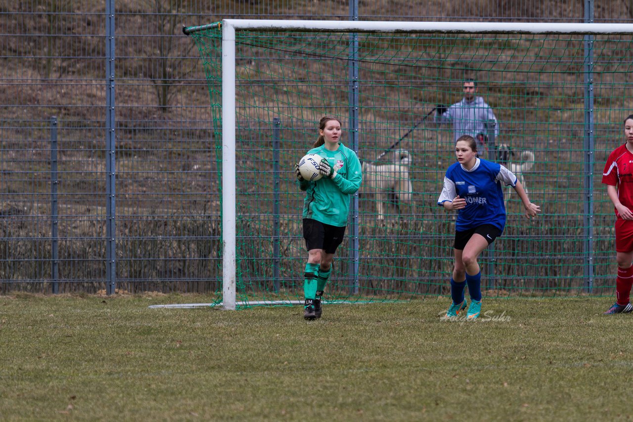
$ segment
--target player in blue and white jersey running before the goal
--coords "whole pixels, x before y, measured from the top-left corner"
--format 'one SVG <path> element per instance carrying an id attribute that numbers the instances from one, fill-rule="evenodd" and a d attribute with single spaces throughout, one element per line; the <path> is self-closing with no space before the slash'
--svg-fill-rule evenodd
<path id="1" fill-rule="evenodd" d="M 467 318 L 474 320 L 481 311 L 481 271 L 477 258 L 501 235 L 506 224 L 506 208 L 501 183 L 511 185 L 525 207 L 527 218 L 536 216 L 541 207 L 532 204 L 517 177 L 501 164 L 477 158 L 477 143 L 470 135 L 455 144 L 457 163 L 446 170 L 444 188 L 437 204 L 458 210 L 455 222 L 454 268 L 451 277 L 453 303 L 446 318 L 458 316 L 466 309 L 464 289 L 468 285 L 470 306 Z"/>

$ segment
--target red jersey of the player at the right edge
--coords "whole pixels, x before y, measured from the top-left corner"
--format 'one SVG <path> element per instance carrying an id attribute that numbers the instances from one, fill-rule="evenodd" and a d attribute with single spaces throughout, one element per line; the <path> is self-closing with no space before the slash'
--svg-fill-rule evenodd
<path id="1" fill-rule="evenodd" d="M 602 183 L 615 186 L 622 205 L 633 210 L 633 153 L 626 144 L 617 147 L 606 160 Z M 620 218 L 618 211 L 615 215 Z"/>

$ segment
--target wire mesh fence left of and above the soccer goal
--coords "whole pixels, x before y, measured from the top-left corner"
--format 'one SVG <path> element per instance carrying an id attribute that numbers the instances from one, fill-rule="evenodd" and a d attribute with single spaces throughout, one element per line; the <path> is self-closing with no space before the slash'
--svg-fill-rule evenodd
<path id="1" fill-rule="evenodd" d="M 1 4 L 0 292 L 219 287 L 220 173 L 206 77 L 184 25 L 633 16 L 633 0 Z"/>

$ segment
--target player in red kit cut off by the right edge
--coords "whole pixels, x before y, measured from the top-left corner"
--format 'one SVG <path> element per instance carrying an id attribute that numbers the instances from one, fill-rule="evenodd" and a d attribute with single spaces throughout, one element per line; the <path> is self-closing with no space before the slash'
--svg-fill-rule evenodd
<path id="1" fill-rule="evenodd" d="M 624 120 L 627 142 L 617 147 L 606 160 L 602 183 L 615 206 L 615 304 L 605 314 L 629 313 L 630 290 L 633 285 L 633 115 Z"/>

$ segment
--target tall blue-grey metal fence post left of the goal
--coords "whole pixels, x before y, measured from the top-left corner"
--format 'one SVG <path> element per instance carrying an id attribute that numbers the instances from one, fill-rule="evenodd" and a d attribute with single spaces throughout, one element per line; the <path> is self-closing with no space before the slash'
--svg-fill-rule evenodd
<path id="1" fill-rule="evenodd" d="M 115 0 L 106 0 L 106 294 L 116 290 Z"/>

